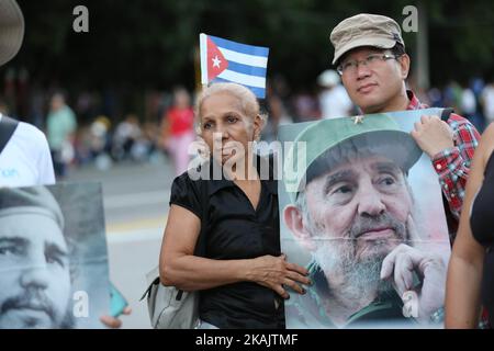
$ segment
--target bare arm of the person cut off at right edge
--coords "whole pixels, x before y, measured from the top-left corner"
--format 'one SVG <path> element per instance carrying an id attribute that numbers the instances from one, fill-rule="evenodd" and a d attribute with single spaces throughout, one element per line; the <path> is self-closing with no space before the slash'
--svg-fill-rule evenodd
<path id="1" fill-rule="evenodd" d="M 483 181 L 485 163 L 494 145 L 494 124 L 484 133 L 473 157 L 467 183 L 460 228 L 448 268 L 446 328 L 476 328 L 480 318 L 480 292 L 485 250 L 473 238 L 470 208 Z"/>

